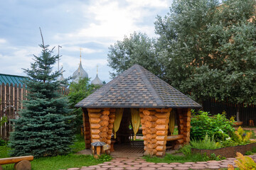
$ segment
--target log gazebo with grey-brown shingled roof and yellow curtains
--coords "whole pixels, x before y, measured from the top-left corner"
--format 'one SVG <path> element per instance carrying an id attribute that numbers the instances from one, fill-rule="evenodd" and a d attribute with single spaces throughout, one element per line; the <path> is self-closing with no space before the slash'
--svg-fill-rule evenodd
<path id="1" fill-rule="evenodd" d="M 190 140 L 191 108 L 201 106 L 154 74 L 134 64 L 118 77 L 76 104 L 83 111 L 86 148 L 91 142 L 111 144 L 115 115 L 120 108 L 137 108 L 144 154 L 162 157 L 166 142 L 174 148 Z M 178 135 L 168 135 L 169 118 L 176 111 Z M 124 111 L 125 115 L 127 111 Z"/>

